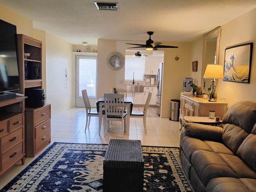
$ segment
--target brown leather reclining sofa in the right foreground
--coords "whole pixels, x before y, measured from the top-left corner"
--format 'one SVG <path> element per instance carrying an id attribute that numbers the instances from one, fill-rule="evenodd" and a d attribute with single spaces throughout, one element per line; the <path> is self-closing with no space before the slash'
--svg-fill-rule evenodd
<path id="1" fill-rule="evenodd" d="M 187 123 L 180 160 L 195 192 L 255 192 L 256 103 L 233 104 L 222 127 Z"/>

